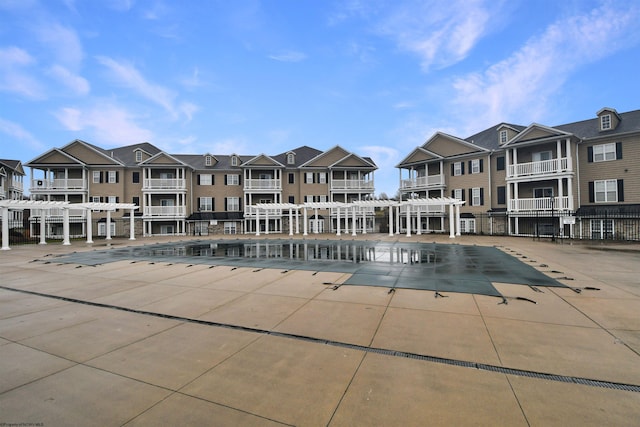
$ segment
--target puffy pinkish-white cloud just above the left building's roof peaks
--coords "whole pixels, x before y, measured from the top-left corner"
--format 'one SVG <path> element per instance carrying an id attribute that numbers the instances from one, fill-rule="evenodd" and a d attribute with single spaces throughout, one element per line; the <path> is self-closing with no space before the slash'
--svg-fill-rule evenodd
<path id="1" fill-rule="evenodd" d="M 125 108 L 101 102 L 87 108 L 62 108 L 54 113 L 65 129 L 87 131 L 103 146 L 122 146 L 153 139 L 153 133 L 138 126 L 136 116 Z"/>

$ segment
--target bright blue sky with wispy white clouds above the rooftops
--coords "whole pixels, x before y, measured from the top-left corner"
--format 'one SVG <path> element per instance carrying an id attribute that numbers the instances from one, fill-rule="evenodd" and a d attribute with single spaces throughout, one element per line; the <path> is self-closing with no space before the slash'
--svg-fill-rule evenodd
<path id="1" fill-rule="evenodd" d="M 0 158 L 78 138 L 371 156 L 640 108 L 640 1 L 0 0 Z"/>

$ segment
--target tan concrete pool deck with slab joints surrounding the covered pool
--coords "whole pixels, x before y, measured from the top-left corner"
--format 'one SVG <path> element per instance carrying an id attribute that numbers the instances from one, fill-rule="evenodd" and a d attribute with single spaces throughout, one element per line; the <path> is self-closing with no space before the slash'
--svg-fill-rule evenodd
<path id="1" fill-rule="evenodd" d="M 355 239 L 495 245 L 581 292 L 494 283 L 499 304 L 335 286 L 346 273 L 55 262 L 104 241 L 14 246 L 0 252 L 0 423 L 638 425 L 640 245 Z"/>

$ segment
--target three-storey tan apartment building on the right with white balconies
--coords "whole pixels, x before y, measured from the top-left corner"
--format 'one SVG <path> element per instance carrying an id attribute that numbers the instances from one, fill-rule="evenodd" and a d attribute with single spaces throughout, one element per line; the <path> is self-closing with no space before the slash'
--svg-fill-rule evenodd
<path id="1" fill-rule="evenodd" d="M 640 111 L 603 108 L 557 126 L 500 123 L 467 138 L 436 133 L 396 167 L 403 198 L 464 200 L 463 232 L 637 239 L 638 156 Z M 444 207 L 433 206 L 422 221 L 422 229 L 444 230 Z"/>

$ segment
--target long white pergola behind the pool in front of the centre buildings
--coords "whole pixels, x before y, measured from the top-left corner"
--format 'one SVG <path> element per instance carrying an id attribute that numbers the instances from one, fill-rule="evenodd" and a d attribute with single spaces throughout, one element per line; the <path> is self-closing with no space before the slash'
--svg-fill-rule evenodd
<path id="1" fill-rule="evenodd" d="M 396 200 L 356 200 L 350 203 L 346 202 L 305 202 L 303 204 L 293 203 L 257 203 L 253 207 L 256 209 L 256 236 L 260 235 L 260 211 L 264 211 L 265 219 L 269 221 L 270 210 L 288 210 L 289 211 L 289 235 L 294 234 L 293 231 L 293 216 L 295 215 L 295 233 L 300 233 L 300 210 L 302 210 L 303 216 L 303 236 L 308 235 L 308 210 L 313 209 L 315 211 L 315 217 L 318 217 L 319 209 L 336 209 L 337 217 L 337 232 L 336 235 L 340 236 L 340 214 L 344 209 L 345 219 L 351 215 L 353 218 L 353 224 L 355 224 L 357 215 L 360 212 L 364 217 L 366 215 L 366 209 L 362 208 L 388 208 L 389 209 L 389 236 L 393 236 L 394 221 L 393 221 L 393 209 L 396 208 L 396 232 L 400 230 L 400 207 L 406 207 L 407 216 L 407 236 L 411 236 L 410 218 L 412 212 L 415 212 L 417 221 L 417 233 L 422 234 L 420 215 L 422 212 L 427 212 L 429 206 L 448 206 L 449 207 L 449 237 L 455 238 L 460 235 L 460 206 L 465 202 L 463 200 L 455 199 L 452 197 L 434 197 L 427 199 L 410 199 L 405 201 Z M 455 207 L 455 212 L 454 212 Z M 362 233 L 366 234 L 366 228 L 363 228 Z M 265 232 L 268 234 L 268 229 Z M 352 236 L 356 235 L 355 225 L 352 227 Z"/>

